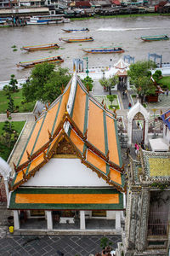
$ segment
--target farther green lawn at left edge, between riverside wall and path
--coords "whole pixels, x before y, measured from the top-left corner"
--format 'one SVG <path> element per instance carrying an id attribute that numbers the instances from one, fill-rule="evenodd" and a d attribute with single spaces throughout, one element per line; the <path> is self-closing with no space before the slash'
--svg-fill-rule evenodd
<path id="1" fill-rule="evenodd" d="M 6 113 L 6 110 L 8 109 L 8 99 L 5 94 L 5 91 L 0 91 L 0 113 Z M 23 100 L 22 89 L 20 89 L 19 92 L 12 93 L 11 96 L 14 99 L 14 107 L 19 106 L 20 113 L 32 112 L 36 102 L 21 104 L 21 100 Z"/>

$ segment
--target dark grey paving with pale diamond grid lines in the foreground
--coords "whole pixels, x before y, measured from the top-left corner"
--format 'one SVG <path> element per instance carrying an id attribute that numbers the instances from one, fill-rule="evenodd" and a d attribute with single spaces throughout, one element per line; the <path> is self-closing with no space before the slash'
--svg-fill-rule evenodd
<path id="1" fill-rule="evenodd" d="M 13 236 L 0 239 L 1 256 L 89 256 L 101 252 L 103 236 Z M 106 236 L 116 249 L 121 236 Z M 63 253 L 63 254 L 61 254 Z"/>

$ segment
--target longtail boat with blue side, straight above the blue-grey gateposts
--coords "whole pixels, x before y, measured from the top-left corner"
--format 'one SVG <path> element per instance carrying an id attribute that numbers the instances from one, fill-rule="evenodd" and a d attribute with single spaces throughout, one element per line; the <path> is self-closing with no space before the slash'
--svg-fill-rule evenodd
<path id="1" fill-rule="evenodd" d="M 121 47 L 99 47 L 99 48 L 83 48 L 83 51 L 91 54 L 106 54 L 106 53 L 122 53 L 124 49 Z"/>

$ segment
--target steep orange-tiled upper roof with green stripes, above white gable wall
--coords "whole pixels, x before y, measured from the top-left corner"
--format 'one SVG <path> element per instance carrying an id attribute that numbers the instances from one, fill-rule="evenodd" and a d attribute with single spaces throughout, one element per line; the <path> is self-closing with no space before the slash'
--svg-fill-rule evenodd
<path id="1" fill-rule="evenodd" d="M 35 121 L 14 165 L 10 189 L 26 183 L 54 154 L 60 154 L 62 143 L 69 144 L 72 154 L 106 183 L 124 190 L 116 115 L 89 95 L 76 73 L 62 95 Z"/>

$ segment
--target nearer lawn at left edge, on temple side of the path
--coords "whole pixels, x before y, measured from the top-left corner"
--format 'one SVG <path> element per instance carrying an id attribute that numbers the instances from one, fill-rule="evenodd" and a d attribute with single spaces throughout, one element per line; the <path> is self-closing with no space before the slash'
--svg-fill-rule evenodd
<path id="1" fill-rule="evenodd" d="M 20 134 L 20 131 L 22 130 L 22 128 L 25 125 L 25 121 L 13 122 L 13 124 L 14 124 L 14 130 L 17 131 L 18 134 Z M 4 125 L 4 122 L 1 122 L 0 123 L 0 136 L 2 135 L 3 125 Z M 4 160 L 8 160 L 8 156 L 11 153 L 13 148 L 14 148 L 14 145 L 12 145 L 11 148 L 7 148 L 5 145 L 0 143 L 0 156 Z"/>

